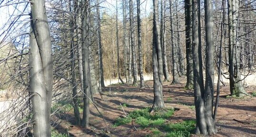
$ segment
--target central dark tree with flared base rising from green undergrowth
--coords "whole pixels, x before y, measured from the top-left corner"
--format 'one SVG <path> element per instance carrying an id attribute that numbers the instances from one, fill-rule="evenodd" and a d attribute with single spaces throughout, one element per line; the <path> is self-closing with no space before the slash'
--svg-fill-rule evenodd
<path id="1" fill-rule="evenodd" d="M 164 108 L 165 103 L 163 99 L 162 91 L 162 79 L 163 79 L 163 60 L 162 60 L 162 50 L 160 45 L 160 30 L 158 22 L 158 0 L 153 0 L 154 5 L 154 17 L 153 17 L 153 79 L 154 79 L 154 102 L 152 110 L 156 108 Z"/>

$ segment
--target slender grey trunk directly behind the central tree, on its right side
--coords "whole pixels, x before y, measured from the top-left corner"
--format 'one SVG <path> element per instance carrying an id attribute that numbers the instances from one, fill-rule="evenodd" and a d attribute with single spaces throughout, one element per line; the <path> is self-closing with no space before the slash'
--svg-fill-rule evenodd
<path id="1" fill-rule="evenodd" d="M 166 55 L 166 12 L 165 12 L 166 4 L 165 0 L 161 0 L 161 46 L 162 46 L 162 55 L 163 55 L 163 73 L 164 73 L 164 81 L 169 81 L 169 72 L 168 72 L 168 65 L 167 65 L 167 55 Z"/>

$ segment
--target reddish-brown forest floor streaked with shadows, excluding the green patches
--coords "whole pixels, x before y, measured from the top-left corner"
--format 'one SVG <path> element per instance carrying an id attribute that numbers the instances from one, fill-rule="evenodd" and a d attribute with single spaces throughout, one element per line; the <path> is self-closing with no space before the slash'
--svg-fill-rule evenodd
<path id="1" fill-rule="evenodd" d="M 114 84 L 104 88 L 102 95 L 95 96 L 98 110 L 106 119 L 106 126 L 96 108 L 90 103 L 89 128 L 85 129 L 72 125 L 74 123 L 73 111 L 59 115 L 59 124 L 55 129 L 59 133 L 66 132 L 70 137 L 150 137 L 152 128 L 140 128 L 138 124 L 131 123 L 113 126 L 115 120 L 126 113 L 136 109 L 151 107 L 153 103 L 153 81 L 145 82 L 146 88 L 140 89 L 129 84 Z M 179 123 L 187 119 L 195 119 L 194 92 L 184 89 L 185 83 L 170 85 L 163 83 L 163 96 L 166 107 L 178 108 L 174 114 L 165 119 L 167 123 Z M 246 91 L 256 91 L 256 85 L 247 86 Z M 210 137 L 256 137 L 256 97 L 228 98 L 229 86 L 221 86 L 219 108 L 217 112 L 217 135 Z M 128 104 L 123 107 L 120 104 Z M 57 118 L 57 117 L 56 117 Z M 156 135 L 155 137 L 162 137 Z M 191 135 L 191 137 L 203 137 Z"/>

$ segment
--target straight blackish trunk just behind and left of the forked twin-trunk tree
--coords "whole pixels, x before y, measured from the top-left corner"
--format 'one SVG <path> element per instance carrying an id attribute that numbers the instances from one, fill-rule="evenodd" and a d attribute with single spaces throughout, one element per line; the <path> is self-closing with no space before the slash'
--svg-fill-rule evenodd
<path id="1" fill-rule="evenodd" d="M 185 0 L 186 26 L 186 60 L 187 60 L 187 89 L 193 89 L 193 58 L 192 58 L 192 0 Z"/>

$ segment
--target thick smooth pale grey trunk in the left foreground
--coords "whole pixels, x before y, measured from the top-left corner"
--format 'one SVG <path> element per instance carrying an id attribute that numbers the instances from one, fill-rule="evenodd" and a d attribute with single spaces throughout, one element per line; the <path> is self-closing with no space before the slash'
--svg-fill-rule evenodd
<path id="1" fill-rule="evenodd" d="M 30 93 L 34 137 L 51 137 L 53 58 L 44 0 L 31 0 L 30 13 Z"/>

